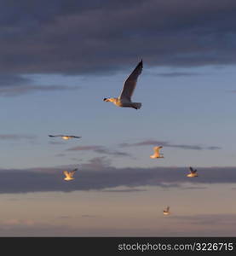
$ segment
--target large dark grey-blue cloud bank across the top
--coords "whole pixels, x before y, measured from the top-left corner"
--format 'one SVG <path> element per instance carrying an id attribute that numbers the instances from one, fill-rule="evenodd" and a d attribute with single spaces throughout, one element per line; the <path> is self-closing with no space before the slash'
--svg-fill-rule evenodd
<path id="1" fill-rule="evenodd" d="M 5 0 L 0 65 L 3 73 L 96 74 L 141 58 L 149 67 L 235 64 L 235 13 L 234 0 Z"/>

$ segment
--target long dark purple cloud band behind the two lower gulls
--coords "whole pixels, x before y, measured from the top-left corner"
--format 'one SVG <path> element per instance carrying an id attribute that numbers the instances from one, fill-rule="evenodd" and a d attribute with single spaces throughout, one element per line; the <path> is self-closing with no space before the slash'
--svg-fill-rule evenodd
<path id="1" fill-rule="evenodd" d="M 0 170 L 0 194 L 43 191 L 128 189 L 152 186 L 164 189 L 184 188 L 215 183 L 236 183 L 235 167 L 198 167 L 199 177 L 186 177 L 187 167 L 115 168 L 105 157 L 78 165 L 75 179 L 68 185 L 63 180 L 64 167 L 26 170 Z M 69 168 L 70 169 L 70 168 Z M 188 185 L 189 186 L 189 185 Z M 108 192 L 107 192 L 108 193 Z"/>

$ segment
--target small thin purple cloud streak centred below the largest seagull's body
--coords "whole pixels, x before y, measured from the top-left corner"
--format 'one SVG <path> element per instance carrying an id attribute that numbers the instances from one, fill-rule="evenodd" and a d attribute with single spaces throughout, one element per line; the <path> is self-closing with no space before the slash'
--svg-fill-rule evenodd
<path id="1" fill-rule="evenodd" d="M 129 153 L 121 152 L 118 150 L 110 150 L 108 148 L 105 148 L 104 146 L 97 146 L 97 145 L 91 145 L 91 146 L 77 146 L 73 148 L 66 149 L 68 151 L 94 151 L 98 154 L 110 154 L 114 156 L 130 156 Z"/>

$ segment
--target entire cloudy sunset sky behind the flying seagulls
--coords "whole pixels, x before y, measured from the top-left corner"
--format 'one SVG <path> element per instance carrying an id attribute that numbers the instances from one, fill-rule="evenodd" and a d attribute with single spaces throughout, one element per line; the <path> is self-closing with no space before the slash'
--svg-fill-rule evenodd
<path id="1" fill-rule="evenodd" d="M 0 1 L 0 236 L 235 236 L 235 16 L 233 0 Z M 103 102 L 141 60 L 141 109 Z"/>

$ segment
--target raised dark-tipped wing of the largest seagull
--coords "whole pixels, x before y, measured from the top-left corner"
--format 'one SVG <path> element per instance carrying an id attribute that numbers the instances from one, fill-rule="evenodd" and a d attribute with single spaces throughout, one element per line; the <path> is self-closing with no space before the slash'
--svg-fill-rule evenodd
<path id="1" fill-rule="evenodd" d="M 141 74 L 141 71 L 142 71 L 142 60 L 135 67 L 134 71 L 130 74 L 128 79 L 126 79 L 121 95 L 119 96 L 120 99 L 125 98 L 131 101 L 131 96 L 134 93 L 134 90 L 137 84 L 137 79 Z"/>

